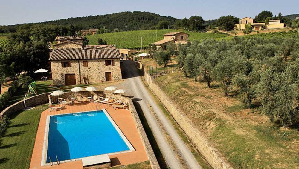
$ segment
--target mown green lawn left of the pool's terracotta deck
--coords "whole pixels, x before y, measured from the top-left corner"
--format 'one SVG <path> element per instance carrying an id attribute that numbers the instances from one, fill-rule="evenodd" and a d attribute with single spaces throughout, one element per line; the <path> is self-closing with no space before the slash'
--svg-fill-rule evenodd
<path id="1" fill-rule="evenodd" d="M 0 138 L 0 168 L 29 168 L 40 115 L 47 108 L 40 105 L 10 116 L 7 133 Z"/>

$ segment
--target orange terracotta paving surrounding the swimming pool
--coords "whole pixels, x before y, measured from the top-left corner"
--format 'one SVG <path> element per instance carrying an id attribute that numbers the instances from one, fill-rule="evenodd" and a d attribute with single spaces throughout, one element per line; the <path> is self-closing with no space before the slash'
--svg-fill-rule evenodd
<path id="1" fill-rule="evenodd" d="M 92 111 L 96 110 L 95 105 L 99 108 L 100 104 L 94 103 L 86 103 L 80 105 L 69 105 L 66 106 L 65 109 L 58 110 L 58 111 L 51 111 L 48 112 L 48 109 L 43 111 L 41 114 L 41 118 L 39 121 L 39 127 L 36 133 L 35 144 L 33 148 L 32 158 L 30 162 L 30 168 L 82 168 L 82 161 L 72 161 L 72 162 L 65 162 L 61 163 L 60 165 L 47 165 L 41 166 L 42 161 L 42 149 L 43 149 L 43 142 L 45 136 L 45 125 L 46 119 L 48 115 L 57 115 L 57 114 L 66 114 L 66 113 L 77 113 L 77 112 L 84 112 L 84 111 Z M 127 152 L 127 153 L 120 153 L 115 155 L 110 155 L 109 158 L 111 160 L 111 166 L 119 166 L 119 165 L 128 165 L 134 164 L 139 162 L 147 161 L 147 154 L 144 150 L 141 138 L 138 134 L 137 128 L 135 126 L 134 120 L 132 119 L 132 115 L 129 110 L 114 110 L 111 106 L 101 104 L 101 109 L 106 109 L 115 123 L 118 125 L 120 130 L 132 144 L 136 151 Z M 100 144 L 100 143 L 99 143 Z M 59 159 L 59 157 L 58 157 Z"/>

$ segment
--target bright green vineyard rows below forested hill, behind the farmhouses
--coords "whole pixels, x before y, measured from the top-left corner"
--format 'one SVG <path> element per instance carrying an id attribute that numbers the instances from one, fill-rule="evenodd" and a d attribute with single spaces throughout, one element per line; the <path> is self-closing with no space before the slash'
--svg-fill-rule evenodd
<path id="1" fill-rule="evenodd" d="M 164 29 L 164 30 L 137 30 L 137 31 L 128 31 L 128 32 L 115 32 L 115 33 L 104 33 L 97 35 L 89 35 L 86 36 L 89 40 L 90 45 L 97 45 L 98 38 L 103 39 L 107 42 L 107 44 L 116 44 L 118 48 L 129 48 L 129 49 L 137 49 L 141 48 L 141 36 L 143 47 L 148 46 L 149 43 L 153 43 L 163 39 L 163 34 L 169 32 L 178 32 L 179 30 L 174 29 Z M 213 33 L 197 33 L 197 32 L 189 32 L 188 33 L 189 40 L 193 39 L 204 39 L 204 38 L 212 38 Z M 214 33 L 214 38 L 224 38 L 227 37 L 228 34 L 225 33 Z"/>

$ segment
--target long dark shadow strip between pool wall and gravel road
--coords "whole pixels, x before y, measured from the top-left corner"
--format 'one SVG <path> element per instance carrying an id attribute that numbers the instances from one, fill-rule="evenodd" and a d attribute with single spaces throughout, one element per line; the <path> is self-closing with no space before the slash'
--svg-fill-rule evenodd
<path id="1" fill-rule="evenodd" d="M 153 133 L 152 133 L 150 127 L 149 127 L 149 124 L 147 123 L 147 120 L 144 116 L 142 108 L 141 108 L 140 104 L 138 103 L 138 101 L 140 101 L 140 100 L 142 100 L 142 99 L 138 99 L 138 98 L 132 99 L 133 104 L 134 104 L 134 106 L 137 110 L 139 119 L 140 119 L 140 121 L 143 125 L 145 133 L 147 134 L 147 138 L 149 139 L 149 143 L 152 146 L 152 149 L 154 151 L 154 154 L 155 154 L 155 156 L 158 160 L 158 163 L 159 163 L 160 167 L 161 168 L 168 168 L 167 163 L 166 163 L 165 159 L 163 158 L 161 150 L 158 146 L 158 143 L 156 142 L 155 137 L 154 137 L 154 135 L 153 135 Z"/>

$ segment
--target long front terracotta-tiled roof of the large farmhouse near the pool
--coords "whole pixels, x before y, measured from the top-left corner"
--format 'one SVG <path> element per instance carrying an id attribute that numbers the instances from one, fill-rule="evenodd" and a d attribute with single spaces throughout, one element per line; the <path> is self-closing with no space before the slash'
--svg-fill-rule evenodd
<path id="1" fill-rule="evenodd" d="M 55 48 L 49 60 L 116 59 L 121 58 L 118 49 L 87 50 L 82 48 Z"/>

